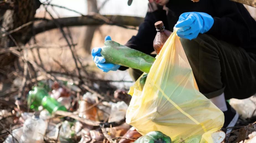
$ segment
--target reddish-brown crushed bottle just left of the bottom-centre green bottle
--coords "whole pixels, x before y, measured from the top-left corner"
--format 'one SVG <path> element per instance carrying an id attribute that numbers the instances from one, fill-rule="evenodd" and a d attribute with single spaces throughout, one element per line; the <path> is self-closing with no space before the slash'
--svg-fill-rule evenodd
<path id="1" fill-rule="evenodd" d="M 138 139 L 142 135 L 136 131 L 134 127 L 131 127 L 130 130 L 126 132 L 126 134 L 123 136 L 124 138 L 121 139 L 118 143 L 130 143 L 134 142 L 134 140 Z"/>

